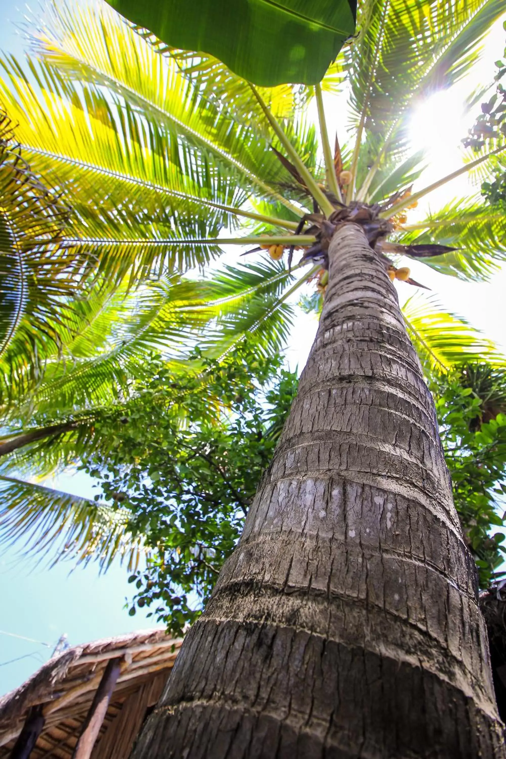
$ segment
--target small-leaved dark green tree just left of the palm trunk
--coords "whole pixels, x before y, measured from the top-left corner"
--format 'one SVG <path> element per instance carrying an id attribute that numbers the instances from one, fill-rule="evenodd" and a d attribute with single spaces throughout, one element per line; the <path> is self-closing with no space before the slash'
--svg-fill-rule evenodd
<path id="1" fill-rule="evenodd" d="M 174 635 L 196 619 L 237 543 L 296 387 L 279 355 L 248 347 L 204 366 L 174 379 L 153 358 L 137 398 L 95 420 L 108 446 L 83 465 L 149 551 L 130 577 L 130 613 L 149 606 Z"/>

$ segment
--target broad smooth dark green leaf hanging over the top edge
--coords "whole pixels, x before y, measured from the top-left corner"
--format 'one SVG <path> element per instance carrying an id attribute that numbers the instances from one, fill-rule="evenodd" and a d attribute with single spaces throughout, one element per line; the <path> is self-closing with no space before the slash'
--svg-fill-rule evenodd
<path id="1" fill-rule="evenodd" d="M 162 42 L 214 55 L 263 87 L 315 84 L 354 33 L 356 0 L 108 0 Z"/>

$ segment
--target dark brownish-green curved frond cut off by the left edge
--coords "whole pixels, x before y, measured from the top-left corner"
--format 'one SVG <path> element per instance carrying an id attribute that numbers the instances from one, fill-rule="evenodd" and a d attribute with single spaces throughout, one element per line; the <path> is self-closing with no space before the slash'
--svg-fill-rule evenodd
<path id="1" fill-rule="evenodd" d="M 0 115 L 0 391 L 46 350 L 58 351 L 74 316 L 86 259 L 61 247 L 68 208 L 24 158 Z M 3 387 L 2 387 L 3 386 Z"/>

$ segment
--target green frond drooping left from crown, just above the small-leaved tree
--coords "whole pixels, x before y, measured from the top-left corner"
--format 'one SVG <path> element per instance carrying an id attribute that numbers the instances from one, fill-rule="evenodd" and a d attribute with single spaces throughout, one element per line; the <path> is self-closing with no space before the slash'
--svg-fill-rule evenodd
<path id="1" fill-rule="evenodd" d="M 187 355 L 194 345 L 219 357 L 249 335 L 259 350 L 279 348 L 288 338 L 292 308 L 278 306 L 278 299 L 293 281 L 282 261 L 266 259 L 225 267 L 212 280 L 171 275 L 137 291 L 124 285 L 76 301 L 80 322 L 74 336 L 59 354 L 46 357 L 37 383 L 30 373 L 20 376 L 16 405 L 5 412 L 24 426 L 34 409 L 61 415 L 121 402 L 146 372 L 151 354 L 162 354 L 178 373 L 191 370 Z"/>

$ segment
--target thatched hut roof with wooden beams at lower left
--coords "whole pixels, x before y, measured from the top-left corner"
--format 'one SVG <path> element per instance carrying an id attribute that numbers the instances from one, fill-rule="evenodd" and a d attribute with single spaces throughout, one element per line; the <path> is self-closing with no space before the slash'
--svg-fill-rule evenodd
<path id="1" fill-rule="evenodd" d="M 8 757 L 32 707 L 45 718 L 30 759 L 72 757 L 105 667 L 121 670 L 92 759 L 127 759 L 155 706 L 182 641 L 163 630 L 106 638 L 58 653 L 15 691 L 0 698 L 0 759 Z"/>

